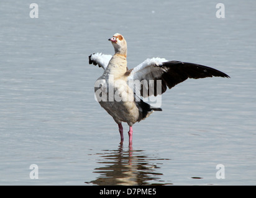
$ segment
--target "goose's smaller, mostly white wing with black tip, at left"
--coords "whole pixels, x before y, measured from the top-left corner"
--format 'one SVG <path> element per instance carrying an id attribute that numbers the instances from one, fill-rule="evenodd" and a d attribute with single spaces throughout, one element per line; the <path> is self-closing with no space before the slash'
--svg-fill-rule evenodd
<path id="1" fill-rule="evenodd" d="M 112 55 L 94 53 L 89 56 L 89 64 L 94 64 L 94 66 L 98 65 L 99 67 L 106 69 L 111 58 Z"/>

